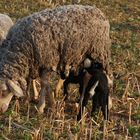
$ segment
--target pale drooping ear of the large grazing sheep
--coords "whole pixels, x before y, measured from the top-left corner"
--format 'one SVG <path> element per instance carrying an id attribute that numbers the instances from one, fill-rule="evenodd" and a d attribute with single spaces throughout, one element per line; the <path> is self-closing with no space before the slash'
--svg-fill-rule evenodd
<path id="1" fill-rule="evenodd" d="M 8 87 L 11 90 L 12 93 L 14 93 L 15 96 L 17 97 L 22 97 L 24 96 L 22 89 L 15 84 L 12 80 L 7 81 Z"/>

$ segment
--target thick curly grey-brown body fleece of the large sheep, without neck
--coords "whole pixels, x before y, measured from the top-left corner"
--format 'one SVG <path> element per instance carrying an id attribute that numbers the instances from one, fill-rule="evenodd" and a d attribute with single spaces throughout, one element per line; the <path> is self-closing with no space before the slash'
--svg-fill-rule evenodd
<path id="1" fill-rule="evenodd" d="M 18 21 L 7 40 L 9 51 L 29 59 L 32 73 L 40 66 L 77 67 L 87 54 L 104 67 L 110 59 L 109 22 L 95 6 L 69 5 L 35 13 Z"/>

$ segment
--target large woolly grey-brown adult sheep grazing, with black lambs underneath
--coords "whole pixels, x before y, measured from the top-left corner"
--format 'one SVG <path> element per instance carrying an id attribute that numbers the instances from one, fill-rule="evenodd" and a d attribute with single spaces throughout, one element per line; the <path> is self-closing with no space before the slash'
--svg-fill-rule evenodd
<path id="1" fill-rule="evenodd" d="M 109 72 L 109 29 L 109 21 L 95 6 L 60 6 L 24 17 L 2 43 L 5 51 L 0 61 L 0 82 L 5 94 L 0 101 L 8 93 L 24 96 L 30 83 L 27 81 L 40 77 L 38 110 L 43 113 L 46 92 L 49 106 L 55 104 L 49 83 L 54 71 L 67 77 L 70 69 L 77 71 L 89 55 Z M 5 112 L 8 106 L 3 102 L 0 109 Z"/>

